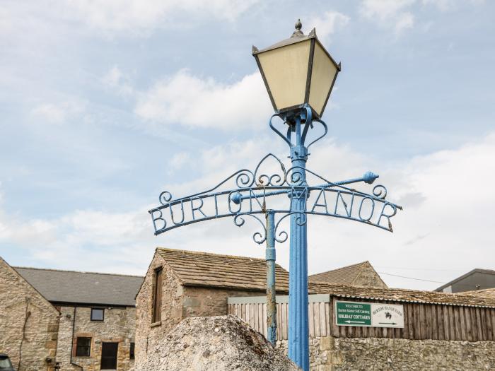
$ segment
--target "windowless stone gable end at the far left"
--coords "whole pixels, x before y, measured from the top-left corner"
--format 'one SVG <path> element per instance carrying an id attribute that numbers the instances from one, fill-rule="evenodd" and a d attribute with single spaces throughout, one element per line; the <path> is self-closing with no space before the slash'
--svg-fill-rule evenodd
<path id="1" fill-rule="evenodd" d="M 0 293 L 0 353 L 16 370 L 52 371 L 59 312 L 1 258 Z"/>

